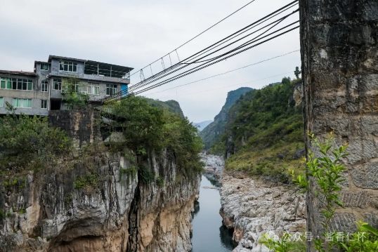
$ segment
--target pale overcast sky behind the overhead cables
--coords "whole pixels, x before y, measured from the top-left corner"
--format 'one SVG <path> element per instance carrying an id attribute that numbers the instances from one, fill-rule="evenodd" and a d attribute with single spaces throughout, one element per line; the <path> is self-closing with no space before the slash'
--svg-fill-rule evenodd
<path id="1" fill-rule="evenodd" d="M 249 1 L 2 1 L 0 69 L 32 72 L 34 60 L 46 61 L 48 55 L 60 55 L 133 67 L 136 71 L 162 58 Z M 178 57 L 182 60 L 197 53 L 290 2 L 255 0 L 179 48 Z M 298 19 L 299 14 L 295 13 L 285 22 L 288 24 Z M 290 53 L 204 81 L 197 80 L 299 48 L 299 29 L 296 29 L 142 95 L 163 101 L 177 100 L 190 121 L 214 119 L 226 102 L 228 91 L 242 86 L 262 88 L 285 76 L 294 78 L 295 67 L 301 65 L 300 53 Z M 173 64 L 178 62 L 176 53 L 171 54 L 171 60 Z M 164 65 L 170 65 L 168 56 L 164 58 Z M 162 71 L 161 60 L 151 68 L 154 74 Z M 149 77 L 151 69 L 145 69 L 143 74 Z M 138 81 L 141 81 L 140 74 L 136 72 L 131 76 L 131 85 Z M 188 84 L 193 81 L 197 82 Z M 174 88 L 183 84 L 188 85 Z"/>

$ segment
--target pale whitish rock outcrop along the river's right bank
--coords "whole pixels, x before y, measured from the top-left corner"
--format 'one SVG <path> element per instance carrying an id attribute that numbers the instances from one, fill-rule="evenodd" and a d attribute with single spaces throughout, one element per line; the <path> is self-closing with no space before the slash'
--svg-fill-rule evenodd
<path id="1" fill-rule="evenodd" d="M 227 171 L 221 183 L 220 214 L 238 242 L 234 252 L 268 251 L 259 239 L 269 231 L 278 235 L 306 231 L 305 197 L 296 189 Z"/>

